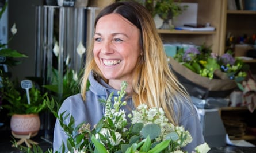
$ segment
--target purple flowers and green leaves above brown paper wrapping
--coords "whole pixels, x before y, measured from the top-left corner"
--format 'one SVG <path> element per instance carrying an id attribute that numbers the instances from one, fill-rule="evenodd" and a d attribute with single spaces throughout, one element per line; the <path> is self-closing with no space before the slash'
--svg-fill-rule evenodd
<path id="1" fill-rule="evenodd" d="M 218 56 L 204 45 L 192 46 L 188 49 L 181 48 L 174 59 L 200 76 L 209 79 L 217 78 L 215 71 L 221 70 L 227 78 L 235 80 L 237 83 L 241 83 L 245 79 L 246 70 L 249 69 L 242 60 L 232 56 L 231 50 Z"/>

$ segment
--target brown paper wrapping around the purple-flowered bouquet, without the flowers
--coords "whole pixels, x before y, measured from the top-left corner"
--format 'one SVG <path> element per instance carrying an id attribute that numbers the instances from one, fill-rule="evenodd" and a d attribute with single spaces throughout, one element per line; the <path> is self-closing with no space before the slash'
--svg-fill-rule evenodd
<path id="1" fill-rule="evenodd" d="M 182 85 L 187 89 L 190 96 L 199 99 L 207 97 L 227 97 L 237 87 L 231 79 L 209 79 L 202 77 L 185 66 L 179 64 L 173 58 L 169 58 L 171 69 Z"/>

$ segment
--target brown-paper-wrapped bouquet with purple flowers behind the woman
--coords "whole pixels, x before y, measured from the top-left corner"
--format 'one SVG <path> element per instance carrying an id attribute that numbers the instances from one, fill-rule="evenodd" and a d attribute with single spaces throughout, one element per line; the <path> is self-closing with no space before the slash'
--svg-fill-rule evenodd
<path id="1" fill-rule="evenodd" d="M 231 51 L 217 56 L 205 45 L 181 48 L 168 60 L 189 95 L 199 99 L 227 97 L 241 86 L 249 70 L 249 65 L 234 58 Z"/>

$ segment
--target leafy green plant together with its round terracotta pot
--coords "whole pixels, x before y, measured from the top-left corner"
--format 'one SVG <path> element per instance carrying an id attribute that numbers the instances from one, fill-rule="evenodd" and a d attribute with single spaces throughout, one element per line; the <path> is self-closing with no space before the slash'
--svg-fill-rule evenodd
<path id="1" fill-rule="evenodd" d="M 3 109 L 7 109 L 11 116 L 12 134 L 15 134 L 14 137 L 16 135 L 35 136 L 40 129 L 38 114 L 46 108 L 44 99 L 47 93 L 41 94 L 40 90 L 33 85 L 30 89 L 24 90 L 17 81 L 10 81 L 9 77 L 1 76 L 1 78 L 1 100 L 5 103 Z"/>

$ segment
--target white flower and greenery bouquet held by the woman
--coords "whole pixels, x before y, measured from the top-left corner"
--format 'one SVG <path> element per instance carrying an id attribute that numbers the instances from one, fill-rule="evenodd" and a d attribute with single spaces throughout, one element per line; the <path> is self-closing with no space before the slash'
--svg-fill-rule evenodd
<path id="1" fill-rule="evenodd" d="M 66 147 L 59 152 L 183 152 L 182 147 L 192 142 L 192 136 L 184 127 L 169 123 L 162 108 L 148 108 L 146 104 L 139 105 L 128 117 L 131 125 L 128 125 L 125 112 L 121 106 L 126 105 L 122 101 L 125 95 L 127 83 L 121 84 L 119 96 L 114 97 L 114 104 L 110 94 L 106 103 L 105 116 L 90 130 L 91 125 L 81 123 L 74 126 L 74 118 L 69 114 L 58 115 L 54 111 L 54 100 L 48 103 L 48 107 L 60 121 L 60 125 L 68 135 Z M 64 119 L 70 116 L 70 123 L 64 124 Z M 68 149 L 65 150 L 65 148 Z M 207 143 L 195 148 L 196 152 L 208 152 Z"/>

